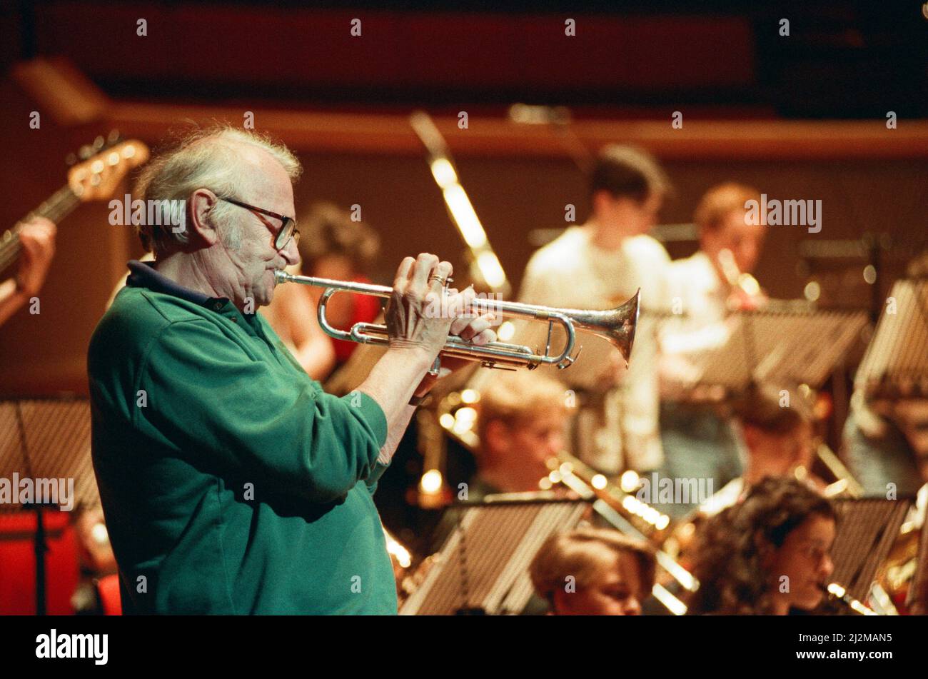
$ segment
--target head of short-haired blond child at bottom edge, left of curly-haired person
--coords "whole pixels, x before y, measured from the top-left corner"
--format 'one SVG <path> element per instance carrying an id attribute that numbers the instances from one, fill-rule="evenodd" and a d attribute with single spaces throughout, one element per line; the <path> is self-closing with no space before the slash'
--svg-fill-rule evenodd
<path id="1" fill-rule="evenodd" d="M 529 572 L 535 592 L 555 615 L 640 615 L 654 568 L 648 544 L 584 528 L 549 537 Z"/>

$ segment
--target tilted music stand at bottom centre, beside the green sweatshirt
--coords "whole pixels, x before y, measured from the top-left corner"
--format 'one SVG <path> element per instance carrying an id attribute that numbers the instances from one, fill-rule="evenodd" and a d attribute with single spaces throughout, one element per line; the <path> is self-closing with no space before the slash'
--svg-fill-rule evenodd
<path id="1" fill-rule="evenodd" d="M 451 507 L 458 526 L 434 557 L 401 615 L 516 614 L 533 587 L 528 567 L 550 535 L 573 529 L 589 506 L 580 500 L 488 497 Z"/>

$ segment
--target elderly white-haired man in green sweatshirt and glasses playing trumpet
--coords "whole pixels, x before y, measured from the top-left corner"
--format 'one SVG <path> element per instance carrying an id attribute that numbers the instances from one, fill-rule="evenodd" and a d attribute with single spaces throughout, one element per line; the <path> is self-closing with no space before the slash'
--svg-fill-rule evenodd
<path id="1" fill-rule="evenodd" d="M 256 314 L 298 260 L 290 151 L 231 128 L 187 137 L 139 180 L 185 200 L 141 225 L 153 263 L 91 339 L 93 455 L 129 613 L 395 613 L 371 494 L 449 334 L 495 339 L 451 264 L 407 257 L 367 380 L 322 391 Z M 463 295 L 430 317 L 434 295 Z M 451 315 L 451 314 L 448 314 Z"/>

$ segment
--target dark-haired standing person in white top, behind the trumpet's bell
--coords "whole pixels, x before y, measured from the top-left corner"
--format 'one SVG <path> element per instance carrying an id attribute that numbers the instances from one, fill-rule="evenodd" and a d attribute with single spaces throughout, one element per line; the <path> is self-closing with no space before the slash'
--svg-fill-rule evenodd
<path id="1" fill-rule="evenodd" d="M 649 154 L 631 147 L 605 147 L 590 180 L 588 221 L 571 226 L 535 252 L 522 280 L 522 301 L 605 309 L 641 288 L 645 308 L 664 306 L 663 275 L 669 258 L 664 246 L 646 234 L 669 190 L 664 171 Z M 646 327 L 639 326 L 638 337 L 647 335 Z M 636 343 L 627 374 L 616 350 L 603 352 L 598 346 L 586 342 L 581 361 L 559 374 L 595 395 L 586 414 L 605 419 L 601 429 L 582 433 L 577 454 L 605 472 L 656 468 L 661 441 L 653 342 Z"/>

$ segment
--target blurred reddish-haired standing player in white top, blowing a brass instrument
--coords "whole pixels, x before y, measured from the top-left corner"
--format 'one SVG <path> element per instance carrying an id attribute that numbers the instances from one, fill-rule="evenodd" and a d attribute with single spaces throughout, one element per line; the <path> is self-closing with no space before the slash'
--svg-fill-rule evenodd
<path id="1" fill-rule="evenodd" d="M 679 390 L 689 365 L 687 354 L 720 341 L 720 322 L 731 308 L 754 308 L 760 294 L 748 297 L 737 285 L 754 269 L 764 242 L 764 225 L 747 224 L 745 203 L 760 199 L 754 188 L 723 184 L 710 189 L 694 215 L 700 250 L 670 264 L 667 294 L 685 316 L 665 326 L 661 338 L 661 439 L 664 468 L 670 478 L 712 479 L 716 487 L 741 475 L 735 432 L 719 406 Z M 668 506 L 679 517 L 692 506 Z"/>

